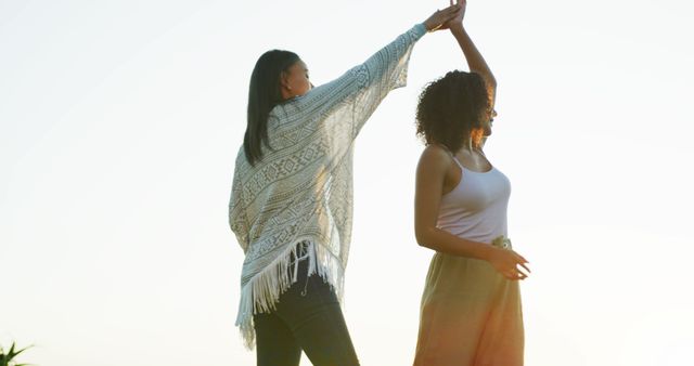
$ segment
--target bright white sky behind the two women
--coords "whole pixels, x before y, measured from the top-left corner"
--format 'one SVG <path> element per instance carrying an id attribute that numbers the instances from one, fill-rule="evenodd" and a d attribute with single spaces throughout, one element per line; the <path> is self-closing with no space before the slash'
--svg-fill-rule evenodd
<path id="1" fill-rule="evenodd" d="M 254 365 L 227 225 L 248 78 L 317 84 L 447 1 L 0 1 L 0 339 L 52 366 Z M 471 0 L 499 81 L 526 364 L 692 363 L 693 5 Z M 432 252 L 412 230 L 416 95 L 464 68 L 425 36 L 360 135 L 345 314 L 362 365 L 409 365 Z M 304 365 L 308 365 L 304 358 Z"/>

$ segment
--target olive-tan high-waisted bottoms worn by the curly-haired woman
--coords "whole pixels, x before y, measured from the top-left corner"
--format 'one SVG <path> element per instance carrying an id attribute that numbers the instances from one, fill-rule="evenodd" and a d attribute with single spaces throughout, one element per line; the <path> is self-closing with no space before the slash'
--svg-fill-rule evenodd
<path id="1" fill-rule="evenodd" d="M 422 296 L 415 366 L 522 366 L 517 280 L 486 261 L 436 253 Z"/>

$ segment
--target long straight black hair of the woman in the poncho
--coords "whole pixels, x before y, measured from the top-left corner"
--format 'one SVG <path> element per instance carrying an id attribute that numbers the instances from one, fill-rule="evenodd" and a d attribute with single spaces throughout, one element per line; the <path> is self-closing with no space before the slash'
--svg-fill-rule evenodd
<path id="1" fill-rule="evenodd" d="M 275 105 L 282 103 L 280 81 L 282 73 L 299 61 L 290 51 L 272 50 L 256 62 L 248 88 L 248 125 L 243 139 L 246 159 L 253 166 L 262 158 L 262 146 L 272 148 L 268 142 L 268 116 Z"/>

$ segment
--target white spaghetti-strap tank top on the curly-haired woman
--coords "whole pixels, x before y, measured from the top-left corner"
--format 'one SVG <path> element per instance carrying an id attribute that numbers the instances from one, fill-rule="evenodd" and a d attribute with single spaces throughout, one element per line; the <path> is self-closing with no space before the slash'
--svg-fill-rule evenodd
<path id="1" fill-rule="evenodd" d="M 453 191 L 441 197 L 437 226 L 455 236 L 479 243 L 507 237 L 506 209 L 511 182 L 493 166 L 486 172 L 472 171 L 451 154 L 462 170 Z"/>

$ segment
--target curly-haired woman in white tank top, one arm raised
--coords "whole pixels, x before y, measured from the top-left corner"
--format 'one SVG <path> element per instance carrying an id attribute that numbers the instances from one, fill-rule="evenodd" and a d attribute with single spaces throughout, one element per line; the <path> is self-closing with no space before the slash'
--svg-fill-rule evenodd
<path id="1" fill-rule="evenodd" d="M 465 6 L 465 0 L 459 0 Z M 497 82 L 465 31 L 447 23 L 471 73 L 429 83 L 416 110 L 426 148 L 416 170 L 415 234 L 436 251 L 420 314 L 415 366 L 519 366 L 524 330 L 518 280 L 528 263 L 506 235 L 509 179 L 483 152 Z"/>

